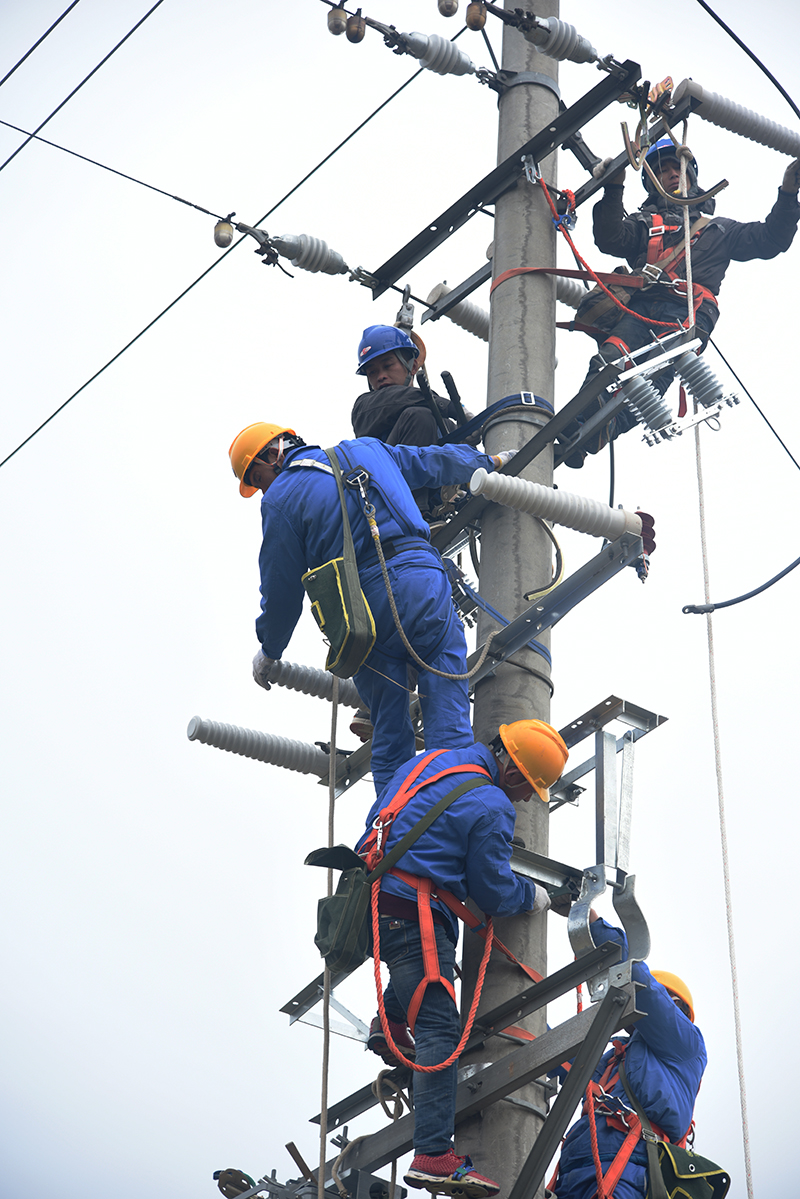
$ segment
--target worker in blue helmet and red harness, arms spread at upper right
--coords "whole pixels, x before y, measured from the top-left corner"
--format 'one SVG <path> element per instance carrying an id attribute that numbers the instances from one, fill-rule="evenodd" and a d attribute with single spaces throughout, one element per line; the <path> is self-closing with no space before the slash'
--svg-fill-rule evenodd
<path id="1" fill-rule="evenodd" d="M 595 173 L 602 173 L 609 161 L 600 163 Z M 625 171 L 620 170 L 607 180 L 603 176 L 603 194 L 595 205 L 593 219 L 597 248 L 603 254 L 624 258 L 634 273 L 650 275 L 654 282 L 633 290 L 626 303 L 626 307 L 638 317 L 624 313 L 614 306 L 600 319 L 585 318 L 607 337 L 602 341 L 602 333 L 600 335 L 600 349 L 591 359 L 584 382 L 599 374 L 607 362 L 618 360 L 627 350 L 646 345 L 652 342 L 654 336 L 669 332 L 669 327 L 664 325 L 686 324 L 684 205 L 670 199 L 680 194 L 679 151 L 670 138 L 661 138 L 651 146 L 645 161 L 656 176 L 661 191 L 654 185 L 648 171 L 643 170 L 642 181 L 648 198 L 637 212 L 626 216 L 622 207 Z M 697 198 L 697 204 L 688 205 L 688 217 L 692 234 L 692 283 L 697 305 L 694 335 L 702 339 L 704 349 L 720 315 L 717 295 L 730 263 L 776 258 L 792 245 L 800 217 L 798 204 L 800 159 L 787 167 L 777 200 L 765 221 L 740 222 L 715 216 L 714 199 L 703 199 L 702 188 L 698 186 L 694 158 L 687 159 L 686 183 L 687 197 Z M 624 279 L 621 282 L 624 283 Z M 581 308 L 577 319 L 582 319 Z M 658 353 L 660 350 L 654 350 L 654 354 Z M 674 370 L 668 366 L 651 379 L 651 382 L 663 396 L 673 379 Z M 601 409 L 603 398 L 601 396 L 594 400 L 593 406 L 584 411 L 578 421 L 567 426 L 563 440 L 575 436 L 583 421 Z M 636 424 L 636 417 L 622 409 L 585 448 L 566 458 L 567 466 L 582 466 L 587 452 L 597 453 L 608 441 L 613 441 L 620 433 L 632 429 Z"/>

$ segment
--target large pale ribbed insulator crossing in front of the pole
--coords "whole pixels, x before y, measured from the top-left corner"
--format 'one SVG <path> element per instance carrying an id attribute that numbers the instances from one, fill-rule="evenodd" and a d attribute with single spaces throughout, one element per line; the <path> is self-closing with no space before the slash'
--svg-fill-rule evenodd
<path id="1" fill-rule="evenodd" d="M 512 475 L 489 474 L 483 466 L 479 466 L 470 478 L 469 489 L 474 495 L 485 495 L 487 500 L 504 504 L 507 508 L 529 512 L 534 517 L 577 529 L 578 532 L 588 532 L 593 537 L 616 541 L 624 532 L 642 536 L 642 520 L 636 512 L 609 508 L 597 500 L 571 495 L 560 489 L 557 492 Z"/>

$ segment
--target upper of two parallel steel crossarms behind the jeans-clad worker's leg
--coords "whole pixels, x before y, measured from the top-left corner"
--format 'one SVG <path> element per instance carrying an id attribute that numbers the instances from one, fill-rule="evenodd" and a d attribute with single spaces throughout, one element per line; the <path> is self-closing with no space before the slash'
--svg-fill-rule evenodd
<path id="1" fill-rule="evenodd" d="M 530 1016 L 531 1012 L 536 1012 L 539 1008 L 553 1002 L 560 995 L 565 995 L 594 974 L 607 975 L 608 970 L 619 960 L 621 952 L 621 947 L 615 941 L 606 941 L 604 945 L 590 950 L 589 953 L 583 954 L 575 962 L 570 962 L 569 965 L 548 975 L 541 982 L 534 983 L 518 995 L 512 996 L 512 999 L 507 999 L 498 1007 L 485 1012 L 481 1016 L 480 1024 L 474 1026 L 464 1053 L 469 1053 L 470 1049 L 483 1044 L 485 1041 L 495 1034 L 503 1032 L 504 1029 L 509 1028 L 509 1024 L 522 1020 L 525 1016 Z M 403 1074 L 408 1076 L 408 1071 L 398 1068 L 385 1077 L 393 1079 Z M 347 1098 L 331 1104 L 327 1109 L 327 1127 L 338 1128 L 341 1125 L 349 1123 L 350 1120 L 355 1120 L 356 1116 L 373 1108 L 378 1103 L 378 1099 L 372 1091 L 372 1083 L 368 1083 L 366 1086 L 360 1087 L 360 1090 L 354 1091 L 353 1095 L 347 1096 Z M 391 1092 L 387 1091 L 386 1097 L 389 1098 Z M 319 1115 L 313 1116 L 309 1122 L 319 1123 Z"/>

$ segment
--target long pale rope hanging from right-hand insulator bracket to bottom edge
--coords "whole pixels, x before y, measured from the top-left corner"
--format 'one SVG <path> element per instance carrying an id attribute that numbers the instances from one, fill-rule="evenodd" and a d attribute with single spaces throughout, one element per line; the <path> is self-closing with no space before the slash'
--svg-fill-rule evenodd
<path id="1" fill-rule="evenodd" d="M 694 453 L 697 460 L 697 494 L 700 517 L 700 547 L 703 553 L 703 588 L 705 603 L 711 603 L 711 585 L 709 582 L 709 556 L 705 540 L 705 493 L 703 490 L 703 463 L 700 459 L 700 424 L 694 426 Z M 753 1199 L 753 1177 L 750 1161 L 750 1126 L 747 1123 L 747 1093 L 745 1089 L 745 1059 L 741 1042 L 741 1020 L 739 1016 L 739 980 L 736 975 L 736 947 L 733 933 L 733 902 L 730 898 L 730 869 L 728 866 L 728 832 L 724 815 L 724 795 L 722 790 L 722 754 L 720 749 L 720 719 L 717 712 L 716 667 L 714 661 L 714 627 L 711 613 L 705 615 L 705 627 L 709 646 L 709 683 L 711 691 L 711 723 L 714 727 L 714 767 L 717 779 L 717 805 L 720 808 L 720 842 L 722 846 L 722 878 L 724 880 L 726 920 L 728 923 L 728 957 L 730 959 L 730 983 L 733 990 L 733 1019 L 736 1035 L 736 1066 L 739 1070 L 739 1105 L 741 1109 L 741 1139 L 745 1151 L 745 1179 L 747 1181 L 747 1199 Z"/>

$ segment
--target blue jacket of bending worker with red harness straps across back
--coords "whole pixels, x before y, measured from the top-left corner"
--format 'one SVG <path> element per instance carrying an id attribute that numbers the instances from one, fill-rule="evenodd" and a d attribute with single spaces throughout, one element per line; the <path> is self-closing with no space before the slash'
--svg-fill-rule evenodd
<path id="1" fill-rule="evenodd" d="M 380 799 L 375 800 L 356 851 L 368 836 L 375 817 L 387 807 L 419 760 L 417 757 L 404 763 Z M 492 751 L 480 741 L 464 749 L 447 749 L 425 767 L 417 782 L 431 778 L 447 766 L 468 764 L 488 770 L 494 782 L 467 791 L 451 803 L 402 855 L 397 867 L 408 874 L 433 879 L 462 903 L 469 896 L 487 916 L 516 916 L 518 912 L 530 911 L 536 887 L 529 879 L 515 874 L 510 866 L 515 809 L 505 793 L 494 785 L 499 772 Z M 467 771 L 447 775 L 419 790 L 397 814 L 384 842 L 384 850 L 390 850 L 402 840 L 426 812 L 470 777 L 473 776 Z M 381 876 L 380 886 L 383 891 L 416 903 L 416 891 L 391 873 Z M 443 912 L 447 935 L 456 942 L 457 917 L 437 900 L 432 900 L 432 906 Z"/>

